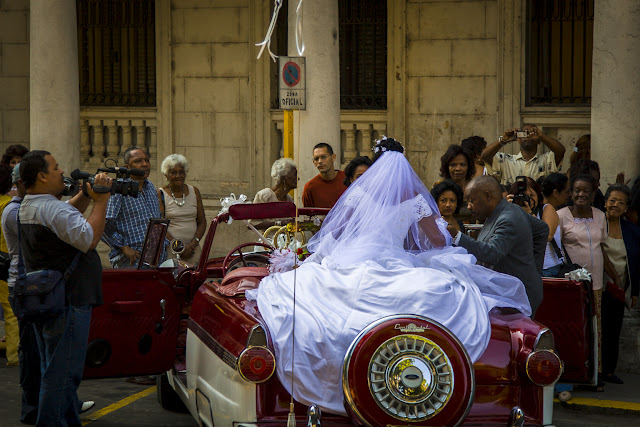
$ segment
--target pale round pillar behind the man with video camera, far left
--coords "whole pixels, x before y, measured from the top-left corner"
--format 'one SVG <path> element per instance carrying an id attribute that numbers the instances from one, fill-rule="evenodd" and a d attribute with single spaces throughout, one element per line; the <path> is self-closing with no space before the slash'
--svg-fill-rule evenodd
<path id="1" fill-rule="evenodd" d="M 69 173 L 81 166 L 76 2 L 30 5 L 31 149 L 50 151 Z"/>

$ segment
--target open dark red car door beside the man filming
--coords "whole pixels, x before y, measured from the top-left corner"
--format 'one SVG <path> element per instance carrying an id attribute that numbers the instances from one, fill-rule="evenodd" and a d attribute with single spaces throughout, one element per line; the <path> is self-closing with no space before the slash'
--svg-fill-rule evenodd
<path id="1" fill-rule="evenodd" d="M 103 304 L 91 315 L 85 378 L 147 375 L 173 366 L 181 307 L 173 270 L 159 268 L 156 256 L 167 226 L 168 220 L 150 221 L 141 254 L 146 261 L 138 268 L 103 271 Z"/>

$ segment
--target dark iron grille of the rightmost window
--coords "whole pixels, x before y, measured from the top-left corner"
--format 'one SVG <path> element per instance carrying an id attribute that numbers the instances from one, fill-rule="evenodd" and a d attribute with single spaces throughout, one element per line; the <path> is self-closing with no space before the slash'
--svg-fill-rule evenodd
<path id="1" fill-rule="evenodd" d="M 591 105 L 594 0 L 527 0 L 527 105 Z"/>

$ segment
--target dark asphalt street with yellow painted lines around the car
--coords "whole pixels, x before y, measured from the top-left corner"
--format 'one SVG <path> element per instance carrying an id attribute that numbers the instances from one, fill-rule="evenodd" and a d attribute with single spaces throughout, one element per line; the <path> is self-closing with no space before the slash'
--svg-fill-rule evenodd
<path id="1" fill-rule="evenodd" d="M 4 325 L 0 322 L 0 336 Z M 20 387 L 18 368 L 6 366 L 0 346 L 0 427 L 22 426 L 18 421 Z M 608 384 L 603 393 L 576 388 L 572 399 L 554 405 L 556 427 L 630 426 L 640 415 L 640 375 L 620 374 L 624 385 Z M 99 427 L 175 426 L 194 427 L 190 414 L 166 411 L 157 402 L 155 386 L 126 382 L 123 378 L 83 381 L 80 398 L 96 406 L 83 414 L 83 425 Z"/>

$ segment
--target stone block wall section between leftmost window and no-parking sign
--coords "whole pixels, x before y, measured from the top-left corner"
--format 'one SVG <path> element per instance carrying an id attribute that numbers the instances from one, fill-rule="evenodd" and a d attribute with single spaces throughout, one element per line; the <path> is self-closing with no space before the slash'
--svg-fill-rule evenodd
<path id="1" fill-rule="evenodd" d="M 205 198 L 254 192 L 251 21 L 247 0 L 171 4 L 172 146 Z"/>

